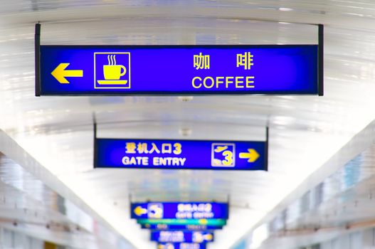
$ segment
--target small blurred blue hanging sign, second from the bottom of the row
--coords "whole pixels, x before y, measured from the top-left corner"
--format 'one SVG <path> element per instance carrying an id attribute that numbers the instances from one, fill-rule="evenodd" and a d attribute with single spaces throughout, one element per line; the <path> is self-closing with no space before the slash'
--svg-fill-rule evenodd
<path id="1" fill-rule="evenodd" d="M 151 231 L 151 240 L 171 243 L 208 243 L 213 241 L 210 231 Z"/>

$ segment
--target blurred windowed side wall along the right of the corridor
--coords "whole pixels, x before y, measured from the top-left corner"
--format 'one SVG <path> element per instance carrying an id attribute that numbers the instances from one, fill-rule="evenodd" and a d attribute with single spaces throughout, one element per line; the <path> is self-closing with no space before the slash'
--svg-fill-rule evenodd
<path id="1" fill-rule="evenodd" d="M 374 122 L 371 124 L 371 132 L 374 132 Z M 258 227 L 258 233 L 263 229 L 266 236 L 251 248 L 259 248 L 259 245 L 260 248 L 302 248 L 374 228 L 374 136 L 371 144 L 339 169 L 331 162 L 334 173 L 319 183 L 310 184 L 310 189 L 302 188 L 307 191 L 300 198 Z"/>

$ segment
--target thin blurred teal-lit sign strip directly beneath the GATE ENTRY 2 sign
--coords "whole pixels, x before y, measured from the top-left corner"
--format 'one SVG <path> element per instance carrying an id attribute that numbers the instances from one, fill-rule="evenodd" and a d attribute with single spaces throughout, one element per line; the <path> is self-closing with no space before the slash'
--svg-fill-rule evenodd
<path id="1" fill-rule="evenodd" d="M 157 224 L 166 224 L 166 225 L 204 225 L 204 226 L 226 226 L 226 220 L 221 218 L 210 218 L 210 219 L 171 219 L 171 218 L 141 218 L 137 219 L 137 223 L 140 225 L 157 225 Z"/>

